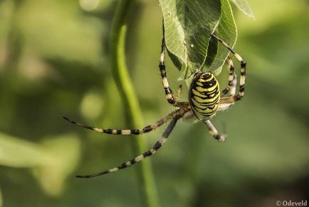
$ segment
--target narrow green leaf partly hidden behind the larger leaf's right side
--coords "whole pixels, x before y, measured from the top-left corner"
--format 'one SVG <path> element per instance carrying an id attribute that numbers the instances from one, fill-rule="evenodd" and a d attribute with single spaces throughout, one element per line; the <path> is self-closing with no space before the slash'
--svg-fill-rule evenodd
<path id="1" fill-rule="evenodd" d="M 218 25 L 218 36 L 231 47 L 236 43 L 237 28 L 229 0 L 221 0 L 221 18 Z M 210 57 L 211 59 L 214 59 L 214 61 L 211 64 L 209 71 L 212 71 L 216 75 L 220 74 L 222 66 L 224 65 L 229 53 L 230 51 L 226 49 L 225 46 L 218 44 L 216 57 Z"/>

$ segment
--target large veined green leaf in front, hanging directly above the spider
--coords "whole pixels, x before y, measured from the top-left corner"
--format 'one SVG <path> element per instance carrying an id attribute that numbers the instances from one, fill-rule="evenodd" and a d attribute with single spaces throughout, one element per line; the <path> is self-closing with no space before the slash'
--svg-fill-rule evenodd
<path id="1" fill-rule="evenodd" d="M 182 63 L 179 79 L 187 79 L 204 65 L 209 35 L 219 23 L 220 1 L 160 0 L 160 4 L 167 49 L 174 62 L 177 59 Z"/>

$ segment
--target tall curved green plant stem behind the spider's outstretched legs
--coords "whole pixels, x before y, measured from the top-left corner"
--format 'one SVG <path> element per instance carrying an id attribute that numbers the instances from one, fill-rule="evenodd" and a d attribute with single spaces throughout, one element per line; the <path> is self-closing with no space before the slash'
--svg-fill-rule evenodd
<path id="1" fill-rule="evenodd" d="M 118 4 L 110 34 L 110 55 L 112 59 L 112 74 L 122 96 L 127 123 L 132 128 L 140 128 L 142 126 L 142 113 L 125 63 L 126 20 L 131 5 L 132 0 L 122 0 Z M 145 140 L 141 137 L 132 137 L 132 148 L 136 155 L 143 153 L 146 146 Z M 137 172 L 140 182 L 140 194 L 144 204 L 142 206 L 159 206 L 150 160 L 138 163 Z"/>

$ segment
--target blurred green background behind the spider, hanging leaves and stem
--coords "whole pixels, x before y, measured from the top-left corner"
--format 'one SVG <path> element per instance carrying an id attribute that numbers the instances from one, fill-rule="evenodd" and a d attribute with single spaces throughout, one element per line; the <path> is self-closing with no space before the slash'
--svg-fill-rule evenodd
<path id="1" fill-rule="evenodd" d="M 74 178 L 135 156 L 130 138 L 62 118 L 127 127 L 108 59 L 115 3 L 0 1 L 0 206 L 142 206 L 135 167 Z M 161 206 L 268 207 L 309 198 L 309 4 L 249 3 L 256 19 L 234 7 L 235 49 L 248 62 L 246 96 L 213 120 L 219 131 L 226 125 L 229 137 L 217 143 L 202 123 L 177 123 L 150 158 Z M 173 108 L 157 67 L 159 1 L 134 6 L 127 64 L 146 126 Z M 171 61 L 167 75 L 177 89 Z M 227 75 L 224 69 L 221 87 Z M 164 126 L 143 138 L 152 146 L 162 131 Z"/>

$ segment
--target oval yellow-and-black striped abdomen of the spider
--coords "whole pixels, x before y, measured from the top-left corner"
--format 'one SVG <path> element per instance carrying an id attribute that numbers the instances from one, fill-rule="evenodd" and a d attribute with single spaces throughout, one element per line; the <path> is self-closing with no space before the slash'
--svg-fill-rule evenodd
<path id="1" fill-rule="evenodd" d="M 189 90 L 192 111 L 201 121 L 210 119 L 216 113 L 220 101 L 219 83 L 211 73 L 197 73 Z"/>

